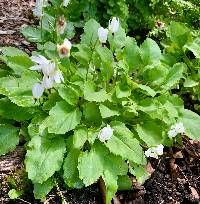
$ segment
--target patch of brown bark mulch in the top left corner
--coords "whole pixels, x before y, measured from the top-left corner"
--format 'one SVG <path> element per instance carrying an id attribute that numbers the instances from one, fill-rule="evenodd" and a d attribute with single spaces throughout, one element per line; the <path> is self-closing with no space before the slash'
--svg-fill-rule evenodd
<path id="1" fill-rule="evenodd" d="M 20 28 L 33 25 L 34 0 L 0 0 L 0 46 L 15 46 L 29 52 L 32 45 L 20 34 Z"/>

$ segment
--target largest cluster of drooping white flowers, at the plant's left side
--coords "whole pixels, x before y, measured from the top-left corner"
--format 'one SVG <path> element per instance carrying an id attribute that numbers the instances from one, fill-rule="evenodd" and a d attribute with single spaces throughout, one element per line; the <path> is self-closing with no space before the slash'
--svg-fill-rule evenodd
<path id="1" fill-rule="evenodd" d="M 30 67 L 31 70 L 41 71 L 43 73 L 43 80 L 41 83 L 36 83 L 33 86 L 32 94 L 34 98 L 40 98 L 45 89 L 51 89 L 53 83 L 64 82 L 63 75 L 56 67 L 56 63 L 47 60 L 44 56 L 32 56 L 31 60 L 37 65 Z"/>

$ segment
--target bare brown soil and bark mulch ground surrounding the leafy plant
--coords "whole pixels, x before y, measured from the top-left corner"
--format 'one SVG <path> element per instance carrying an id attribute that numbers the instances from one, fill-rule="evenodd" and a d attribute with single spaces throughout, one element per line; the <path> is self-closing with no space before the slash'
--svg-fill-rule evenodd
<path id="1" fill-rule="evenodd" d="M 34 45 L 20 34 L 21 26 L 34 25 L 33 0 L 0 0 L 0 46 L 15 46 L 30 53 Z M 134 191 L 118 192 L 113 204 L 190 204 L 200 203 L 200 143 L 185 140 L 183 149 L 166 149 L 160 160 L 150 160 L 154 173 L 140 186 L 133 183 Z M 25 151 L 16 151 L 0 157 L 0 203 L 37 204 L 30 181 L 24 172 Z M 22 178 L 23 176 L 23 178 Z M 23 179 L 23 181 L 21 181 Z M 24 195 L 10 200 L 7 193 L 15 185 L 25 188 Z M 24 186 L 25 185 L 25 186 Z M 60 189 L 69 204 L 102 204 L 98 185 L 83 190 Z M 61 204 L 57 189 L 47 197 L 46 204 Z"/>

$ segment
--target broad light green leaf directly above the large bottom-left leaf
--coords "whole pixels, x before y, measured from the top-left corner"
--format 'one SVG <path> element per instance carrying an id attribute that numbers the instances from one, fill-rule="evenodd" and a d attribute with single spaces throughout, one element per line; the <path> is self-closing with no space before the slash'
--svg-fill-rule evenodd
<path id="1" fill-rule="evenodd" d="M 49 117 L 43 122 L 49 133 L 65 134 L 73 130 L 81 120 L 81 112 L 78 108 L 70 106 L 65 101 L 57 102 L 50 110 Z"/>

